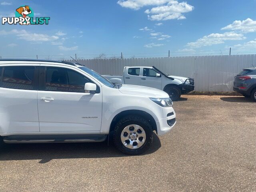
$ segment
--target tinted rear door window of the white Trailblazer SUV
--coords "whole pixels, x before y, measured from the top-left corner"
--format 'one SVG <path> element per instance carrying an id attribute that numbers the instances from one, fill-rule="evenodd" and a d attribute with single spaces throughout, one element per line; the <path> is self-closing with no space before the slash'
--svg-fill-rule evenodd
<path id="1" fill-rule="evenodd" d="M 2 87 L 12 89 L 36 90 L 34 88 L 34 72 L 34 66 L 4 67 Z"/>

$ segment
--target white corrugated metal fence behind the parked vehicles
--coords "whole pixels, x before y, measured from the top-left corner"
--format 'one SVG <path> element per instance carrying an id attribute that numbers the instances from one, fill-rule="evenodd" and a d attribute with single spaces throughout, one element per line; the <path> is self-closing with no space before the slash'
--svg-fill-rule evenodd
<path id="1" fill-rule="evenodd" d="M 194 78 L 195 91 L 232 92 L 234 76 L 243 68 L 256 66 L 256 54 L 84 59 L 78 60 L 78 62 L 102 75 L 121 75 L 124 66 L 156 66 L 170 75 Z"/>

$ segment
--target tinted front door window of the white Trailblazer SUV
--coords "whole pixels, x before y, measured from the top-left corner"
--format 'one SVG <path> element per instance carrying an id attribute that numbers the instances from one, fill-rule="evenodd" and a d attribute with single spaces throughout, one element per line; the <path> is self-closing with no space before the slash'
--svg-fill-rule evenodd
<path id="1" fill-rule="evenodd" d="M 84 84 L 91 82 L 84 75 L 67 68 L 46 68 L 46 90 L 62 92 L 83 92 Z"/>

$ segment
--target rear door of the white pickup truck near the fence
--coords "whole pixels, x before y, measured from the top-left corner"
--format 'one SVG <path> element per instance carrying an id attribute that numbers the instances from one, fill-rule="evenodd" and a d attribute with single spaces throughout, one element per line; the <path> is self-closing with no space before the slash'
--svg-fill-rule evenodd
<path id="1" fill-rule="evenodd" d="M 130 85 L 140 85 L 140 67 L 127 67 L 124 71 L 124 82 Z"/>

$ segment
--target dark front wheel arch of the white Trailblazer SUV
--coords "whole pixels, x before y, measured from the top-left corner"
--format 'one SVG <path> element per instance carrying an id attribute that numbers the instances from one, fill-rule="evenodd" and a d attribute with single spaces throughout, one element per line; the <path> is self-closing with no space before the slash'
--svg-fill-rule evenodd
<path id="1" fill-rule="evenodd" d="M 152 115 L 150 115 L 149 113 L 142 111 L 142 110 L 125 110 L 122 111 L 118 114 L 116 114 L 116 116 L 112 119 L 112 122 L 110 124 L 110 130 L 109 132 L 111 133 L 114 130 L 114 127 L 116 125 L 116 123 L 123 118 L 124 116 L 127 115 L 138 115 L 141 116 L 143 118 L 145 118 L 146 120 L 148 120 L 149 124 L 151 125 L 152 129 L 156 131 L 157 133 L 157 126 L 156 126 L 156 121 L 153 118 Z"/>

